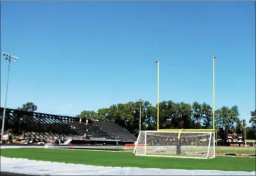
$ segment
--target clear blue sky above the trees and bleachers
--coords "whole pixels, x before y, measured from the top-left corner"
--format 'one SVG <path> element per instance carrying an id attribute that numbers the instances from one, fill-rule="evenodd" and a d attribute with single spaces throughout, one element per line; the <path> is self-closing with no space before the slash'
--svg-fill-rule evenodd
<path id="1" fill-rule="evenodd" d="M 138 97 L 255 109 L 255 2 L 1 2 L 8 107 L 77 115 Z M 1 106 L 7 61 L 1 56 Z"/>

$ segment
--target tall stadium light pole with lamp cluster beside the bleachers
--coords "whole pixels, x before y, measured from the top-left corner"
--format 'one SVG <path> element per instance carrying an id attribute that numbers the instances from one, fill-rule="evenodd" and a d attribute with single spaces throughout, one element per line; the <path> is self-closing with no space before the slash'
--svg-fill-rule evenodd
<path id="1" fill-rule="evenodd" d="M 15 57 L 8 53 L 3 53 L 3 56 L 5 57 L 5 60 L 8 60 L 8 74 L 7 74 L 7 89 L 5 93 L 5 105 L 4 105 L 4 113 L 2 117 L 2 131 L 1 135 L 4 135 L 4 125 L 5 125 L 5 112 L 6 112 L 6 106 L 7 106 L 7 95 L 8 95 L 8 86 L 9 86 L 9 70 L 11 67 L 11 61 L 16 62 L 18 60 L 18 57 Z"/>

